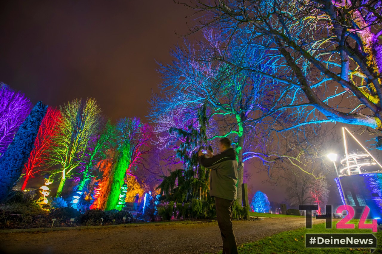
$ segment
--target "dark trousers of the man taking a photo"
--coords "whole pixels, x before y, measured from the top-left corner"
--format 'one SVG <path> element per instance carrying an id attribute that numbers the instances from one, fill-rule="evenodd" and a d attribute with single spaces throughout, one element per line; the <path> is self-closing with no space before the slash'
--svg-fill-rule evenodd
<path id="1" fill-rule="evenodd" d="M 232 228 L 232 205 L 234 200 L 215 197 L 217 224 L 223 240 L 223 254 L 237 254 L 235 233 Z"/>

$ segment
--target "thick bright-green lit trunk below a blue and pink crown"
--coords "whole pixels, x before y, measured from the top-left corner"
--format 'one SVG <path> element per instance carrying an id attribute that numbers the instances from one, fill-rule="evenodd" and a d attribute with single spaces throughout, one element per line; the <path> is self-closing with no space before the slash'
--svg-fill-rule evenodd
<path id="1" fill-rule="evenodd" d="M 112 210 L 117 207 L 119 195 L 121 193 L 121 187 L 125 180 L 126 171 L 130 164 L 130 144 L 124 145 L 120 159 L 118 160 L 117 167 L 113 175 L 113 181 L 110 193 L 107 198 L 105 210 Z"/>

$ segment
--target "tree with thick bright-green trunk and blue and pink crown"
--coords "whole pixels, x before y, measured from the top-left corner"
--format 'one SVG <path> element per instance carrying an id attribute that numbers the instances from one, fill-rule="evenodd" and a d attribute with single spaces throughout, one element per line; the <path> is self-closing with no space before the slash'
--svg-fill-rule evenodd
<path id="1" fill-rule="evenodd" d="M 143 124 L 139 118 L 123 118 L 117 122 L 117 162 L 111 179 L 110 193 L 105 210 L 117 208 L 121 186 L 125 182 L 126 173 L 136 169 L 142 161 L 142 155 L 149 150 L 151 128 Z"/>

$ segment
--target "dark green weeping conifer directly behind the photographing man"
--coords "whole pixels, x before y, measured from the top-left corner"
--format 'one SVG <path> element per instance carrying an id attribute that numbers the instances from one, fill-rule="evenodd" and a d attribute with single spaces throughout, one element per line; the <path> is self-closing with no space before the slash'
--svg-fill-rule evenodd
<path id="1" fill-rule="evenodd" d="M 169 130 L 185 140 L 176 151 L 184 168 L 171 172 L 158 186 L 162 194 L 159 215 L 165 220 L 174 217 L 211 218 L 216 215 L 215 202 L 209 195 L 210 169 L 199 165 L 197 151 L 207 145 L 206 127 L 208 119 L 206 106 L 198 111 L 199 130 L 188 126 L 188 130 Z M 210 146 L 209 150 L 212 150 Z"/>

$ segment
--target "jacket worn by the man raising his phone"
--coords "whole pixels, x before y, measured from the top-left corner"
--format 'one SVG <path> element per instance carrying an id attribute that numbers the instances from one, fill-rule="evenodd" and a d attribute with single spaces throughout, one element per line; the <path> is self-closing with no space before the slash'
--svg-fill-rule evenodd
<path id="1" fill-rule="evenodd" d="M 199 163 L 211 169 L 210 196 L 229 200 L 236 199 L 238 183 L 238 167 L 235 151 L 225 150 L 211 158 L 199 156 Z"/>

